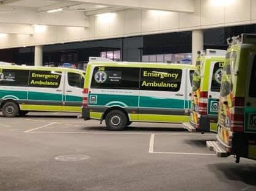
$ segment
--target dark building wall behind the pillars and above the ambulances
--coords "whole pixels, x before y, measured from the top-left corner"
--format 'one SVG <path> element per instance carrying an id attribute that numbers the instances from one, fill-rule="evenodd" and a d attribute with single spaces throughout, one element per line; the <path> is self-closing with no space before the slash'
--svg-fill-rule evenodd
<path id="1" fill-rule="evenodd" d="M 227 49 L 226 39 L 241 33 L 256 33 L 256 25 L 222 27 L 203 31 L 204 49 Z M 43 63 L 61 64 L 68 59 L 86 63 L 89 57 L 99 57 L 102 51 L 121 51 L 122 61 L 141 61 L 142 55 L 191 52 L 192 32 L 53 44 L 43 47 Z M 66 60 L 63 60 L 63 57 Z M 68 59 L 67 59 L 68 58 Z M 0 61 L 16 64 L 34 63 L 34 47 L 0 50 Z"/>

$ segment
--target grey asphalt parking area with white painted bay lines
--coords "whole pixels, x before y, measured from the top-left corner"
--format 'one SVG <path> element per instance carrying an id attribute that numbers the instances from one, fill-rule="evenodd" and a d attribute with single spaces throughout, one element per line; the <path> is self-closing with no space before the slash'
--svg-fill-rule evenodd
<path id="1" fill-rule="evenodd" d="M 0 115 L 0 190 L 256 190 L 256 161 L 217 158 L 178 124 L 104 123 L 70 113 Z"/>

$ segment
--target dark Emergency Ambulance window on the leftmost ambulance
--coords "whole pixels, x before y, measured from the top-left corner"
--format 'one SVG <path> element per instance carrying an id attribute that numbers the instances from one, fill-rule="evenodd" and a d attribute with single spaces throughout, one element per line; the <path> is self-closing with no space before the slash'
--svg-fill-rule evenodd
<path id="1" fill-rule="evenodd" d="M 29 86 L 39 88 L 59 88 L 61 72 L 30 71 Z"/>

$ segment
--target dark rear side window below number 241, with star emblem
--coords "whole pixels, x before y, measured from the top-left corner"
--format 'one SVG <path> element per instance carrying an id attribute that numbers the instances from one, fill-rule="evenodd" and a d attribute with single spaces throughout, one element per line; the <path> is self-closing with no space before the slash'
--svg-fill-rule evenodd
<path id="1" fill-rule="evenodd" d="M 96 67 L 92 88 L 138 89 L 139 68 Z"/>

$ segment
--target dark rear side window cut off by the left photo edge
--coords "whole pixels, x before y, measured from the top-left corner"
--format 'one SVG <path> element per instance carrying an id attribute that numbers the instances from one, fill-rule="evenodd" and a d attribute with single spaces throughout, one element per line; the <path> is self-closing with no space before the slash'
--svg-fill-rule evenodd
<path id="1" fill-rule="evenodd" d="M 0 69 L 0 85 L 27 86 L 29 71 L 16 69 Z"/>

